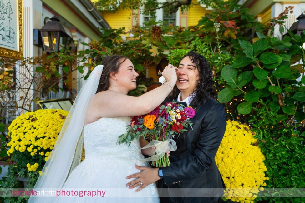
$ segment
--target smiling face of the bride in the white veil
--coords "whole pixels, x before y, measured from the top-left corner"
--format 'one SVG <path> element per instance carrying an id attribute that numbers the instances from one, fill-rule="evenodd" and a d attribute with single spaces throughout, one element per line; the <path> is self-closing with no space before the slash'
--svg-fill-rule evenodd
<path id="1" fill-rule="evenodd" d="M 137 88 L 136 78 L 139 76 L 135 72 L 134 65 L 129 59 L 126 59 L 121 63 L 119 71 L 115 74 L 117 78 L 117 87 L 125 89 L 127 91 Z"/>

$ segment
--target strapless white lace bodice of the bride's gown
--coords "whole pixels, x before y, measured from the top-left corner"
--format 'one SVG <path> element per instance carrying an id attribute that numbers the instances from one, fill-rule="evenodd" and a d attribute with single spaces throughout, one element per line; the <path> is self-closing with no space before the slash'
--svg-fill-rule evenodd
<path id="1" fill-rule="evenodd" d="M 126 133 L 130 118 L 100 118 L 84 126 L 85 157 L 98 158 L 111 156 L 116 158 L 141 159 L 139 140 L 127 144 L 117 144 L 118 137 Z"/>

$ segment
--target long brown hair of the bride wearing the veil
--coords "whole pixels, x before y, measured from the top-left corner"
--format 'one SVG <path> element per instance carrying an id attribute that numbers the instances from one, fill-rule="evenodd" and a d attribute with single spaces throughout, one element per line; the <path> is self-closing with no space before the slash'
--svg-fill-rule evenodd
<path id="1" fill-rule="evenodd" d="M 126 59 L 129 58 L 121 55 L 110 55 L 104 58 L 104 60 L 102 61 L 102 65 L 104 65 L 104 68 L 103 68 L 102 76 L 99 79 L 99 86 L 97 87 L 97 91 L 95 92 L 95 94 L 98 92 L 105 91 L 109 88 L 110 73 L 114 72 L 115 74 L 119 72 L 119 67 Z"/>

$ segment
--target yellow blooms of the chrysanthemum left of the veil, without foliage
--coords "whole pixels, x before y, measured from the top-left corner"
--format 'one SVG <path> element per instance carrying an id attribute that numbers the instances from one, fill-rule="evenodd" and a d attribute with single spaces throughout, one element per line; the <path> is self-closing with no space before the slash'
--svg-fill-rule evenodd
<path id="1" fill-rule="evenodd" d="M 27 112 L 18 116 L 8 126 L 9 147 L 7 154 L 28 153 L 31 155 L 29 163 L 26 165 L 28 171 L 36 171 L 41 156 L 46 155 L 48 159 L 49 153 L 64 124 L 62 116 L 66 117 L 68 111 L 61 109 L 40 109 L 35 112 Z M 18 160 L 16 160 L 18 162 Z M 35 163 L 30 165 L 30 163 Z M 42 166 L 41 166 L 42 167 Z"/>

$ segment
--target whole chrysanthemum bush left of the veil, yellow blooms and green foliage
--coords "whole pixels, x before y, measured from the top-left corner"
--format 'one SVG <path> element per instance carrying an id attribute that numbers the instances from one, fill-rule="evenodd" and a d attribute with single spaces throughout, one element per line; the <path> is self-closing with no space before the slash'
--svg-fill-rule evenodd
<path id="1" fill-rule="evenodd" d="M 67 115 L 68 111 L 61 109 L 40 109 L 12 121 L 7 154 L 13 164 L 8 168 L 5 187 L 19 187 L 16 176 L 28 177 L 29 186 L 35 184 Z"/>

